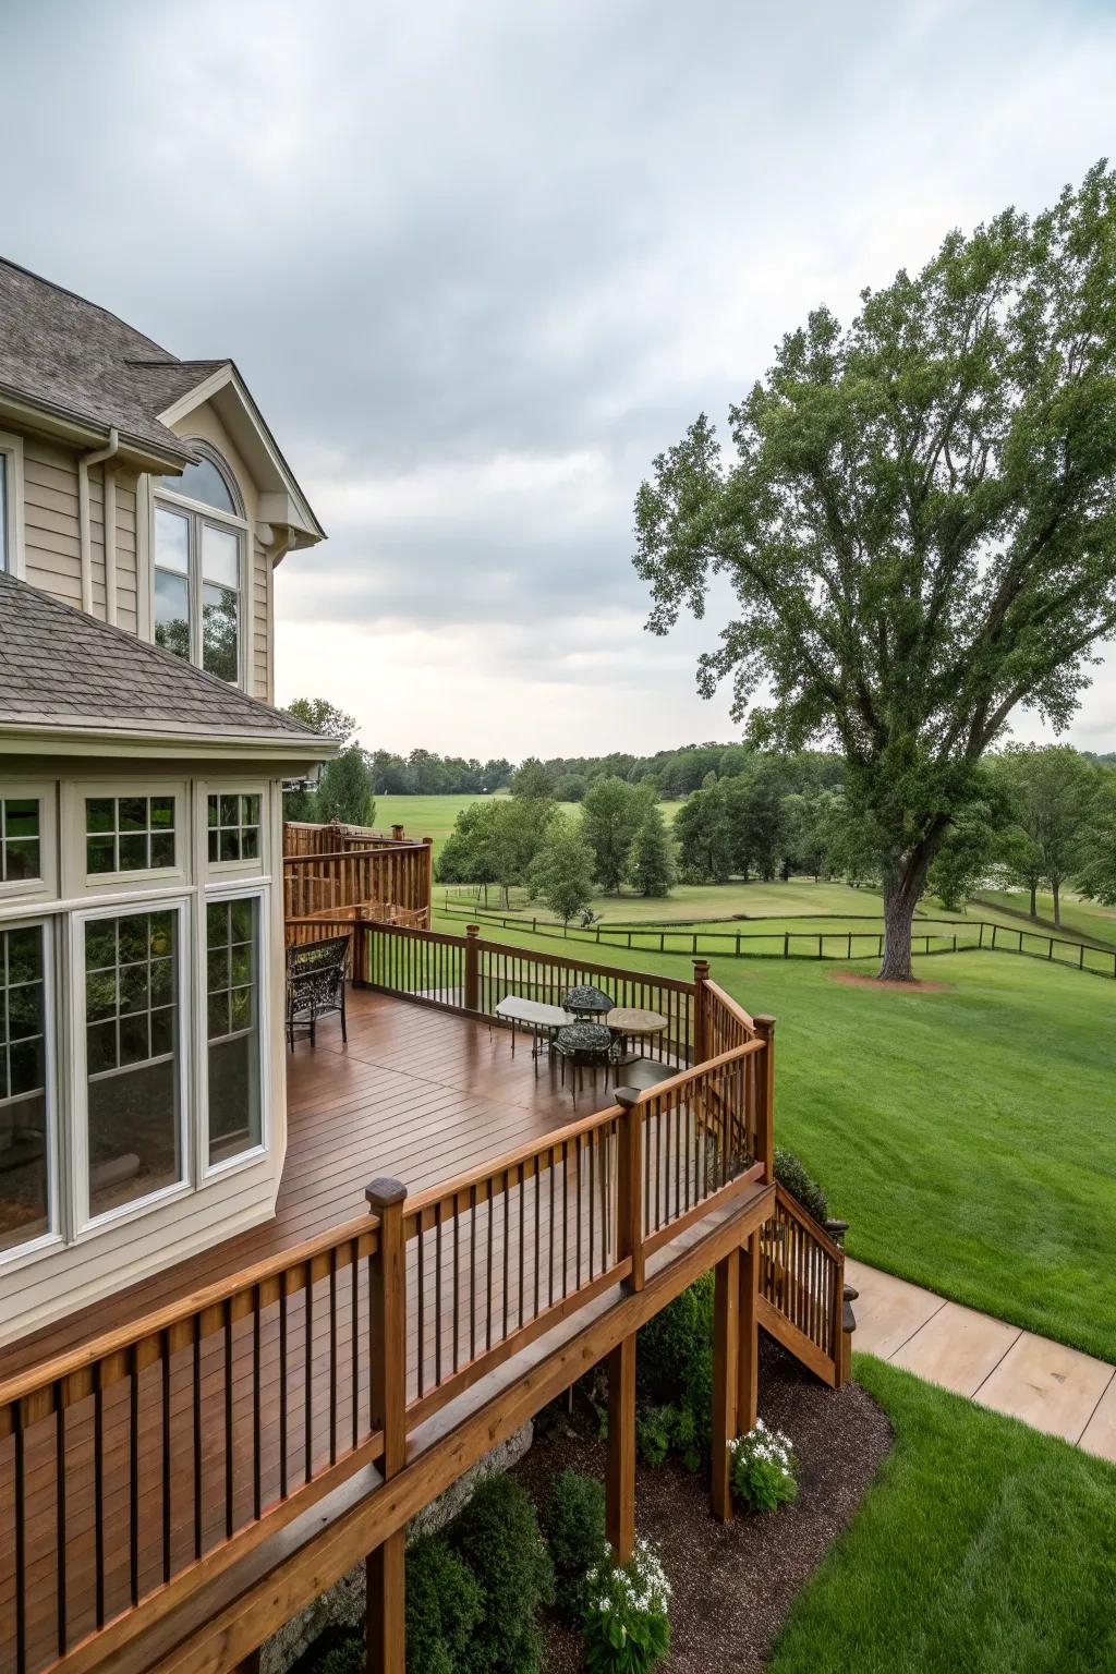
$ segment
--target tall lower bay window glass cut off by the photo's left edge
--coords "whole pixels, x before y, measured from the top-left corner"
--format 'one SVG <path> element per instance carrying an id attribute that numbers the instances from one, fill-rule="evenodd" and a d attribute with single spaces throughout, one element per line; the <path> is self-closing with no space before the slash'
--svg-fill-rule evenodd
<path id="1" fill-rule="evenodd" d="M 50 1230 L 42 929 L 0 931 L 0 1250 Z"/>

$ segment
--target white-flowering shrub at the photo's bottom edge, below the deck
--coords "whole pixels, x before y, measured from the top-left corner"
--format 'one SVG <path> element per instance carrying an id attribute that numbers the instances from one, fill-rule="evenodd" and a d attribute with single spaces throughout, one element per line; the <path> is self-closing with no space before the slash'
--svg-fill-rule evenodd
<path id="1" fill-rule="evenodd" d="M 636 1542 L 627 1564 L 606 1558 L 587 1577 L 584 1615 L 586 1669 L 589 1674 L 646 1674 L 671 1646 L 668 1609 L 671 1587 L 659 1555 L 646 1540 Z"/>

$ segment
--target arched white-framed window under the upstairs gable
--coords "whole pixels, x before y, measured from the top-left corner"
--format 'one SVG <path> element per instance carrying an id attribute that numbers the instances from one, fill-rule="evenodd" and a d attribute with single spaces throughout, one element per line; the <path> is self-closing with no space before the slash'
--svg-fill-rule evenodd
<path id="1" fill-rule="evenodd" d="M 239 685 L 244 507 L 218 450 L 191 445 L 197 464 L 156 480 L 156 644 Z"/>

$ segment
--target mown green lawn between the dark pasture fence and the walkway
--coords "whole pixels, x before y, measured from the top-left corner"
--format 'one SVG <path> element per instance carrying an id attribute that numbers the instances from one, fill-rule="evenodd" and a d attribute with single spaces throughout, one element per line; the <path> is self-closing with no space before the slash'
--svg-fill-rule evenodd
<path id="1" fill-rule="evenodd" d="M 564 951 L 520 929 L 499 939 Z M 688 969 L 646 951 L 586 958 Z M 1116 1359 L 1116 983 L 979 953 L 915 961 L 945 993 L 848 988 L 840 968 L 713 961 L 750 1011 L 778 1018 L 776 1137 L 852 1222 L 850 1252 Z"/>

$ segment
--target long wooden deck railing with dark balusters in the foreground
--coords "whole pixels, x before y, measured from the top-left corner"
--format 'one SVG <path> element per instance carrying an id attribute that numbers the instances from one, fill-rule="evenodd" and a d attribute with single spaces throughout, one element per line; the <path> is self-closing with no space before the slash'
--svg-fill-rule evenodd
<path id="1" fill-rule="evenodd" d="M 378 932 L 376 932 L 378 934 Z M 408 942 L 412 937 L 400 937 Z M 0 1384 L 0 1667 L 112 1654 L 686 1227 L 761 1190 L 756 1036 Z M 97 1657 L 92 1657 L 95 1649 Z M 107 1661 L 105 1661 L 107 1659 Z"/>

